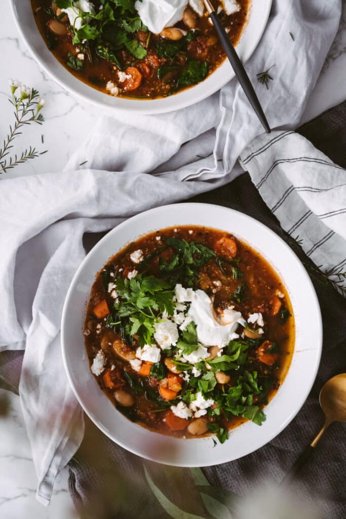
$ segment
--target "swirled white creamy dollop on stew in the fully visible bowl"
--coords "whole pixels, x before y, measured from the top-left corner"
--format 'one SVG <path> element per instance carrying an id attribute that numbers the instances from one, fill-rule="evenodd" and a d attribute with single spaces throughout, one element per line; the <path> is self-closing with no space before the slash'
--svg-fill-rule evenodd
<path id="1" fill-rule="evenodd" d="M 187 316 L 196 324 L 199 343 L 203 346 L 218 346 L 223 348 L 230 340 L 236 339 L 238 325 L 245 321 L 240 312 L 232 308 L 227 310 L 227 324 L 216 320 L 213 303 L 203 290 L 192 291 L 190 308 Z"/>

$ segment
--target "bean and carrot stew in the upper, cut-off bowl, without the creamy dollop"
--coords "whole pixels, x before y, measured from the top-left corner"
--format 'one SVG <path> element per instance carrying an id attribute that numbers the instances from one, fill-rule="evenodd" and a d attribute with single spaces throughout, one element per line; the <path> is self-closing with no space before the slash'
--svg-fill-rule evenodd
<path id="1" fill-rule="evenodd" d="M 84 83 L 110 95 L 167 97 L 199 83 L 225 59 L 205 10 L 199 16 L 187 7 L 183 20 L 154 34 L 141 22 L 134 0 L 128 0 L 125 10 L 113 0 L 94 0 L 91 16 L 76 8 L 79 16 L 73 25 L 61 9 L 73 5 L 72 0 L 31 3 L 39 31 L 60 63 Z M 237 44 L 248 0 L 237 0 L 239 10 L 232 15 L 226 14 L 219 0 L 212 3 Z"/>

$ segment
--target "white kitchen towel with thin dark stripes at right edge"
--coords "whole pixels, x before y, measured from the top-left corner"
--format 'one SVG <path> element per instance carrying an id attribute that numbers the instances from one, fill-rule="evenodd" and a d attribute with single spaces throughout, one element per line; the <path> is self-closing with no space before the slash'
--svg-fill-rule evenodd
<path id="1" fill-rule="evenodd" d="M 346 171 L 294 131 L 259 135 L 240 163 L 281 227 L 346 297 Z"/>

